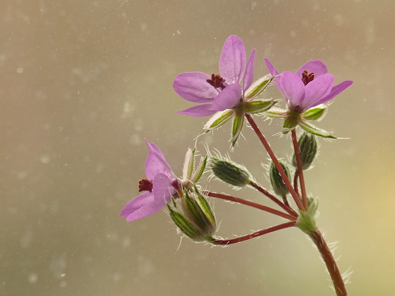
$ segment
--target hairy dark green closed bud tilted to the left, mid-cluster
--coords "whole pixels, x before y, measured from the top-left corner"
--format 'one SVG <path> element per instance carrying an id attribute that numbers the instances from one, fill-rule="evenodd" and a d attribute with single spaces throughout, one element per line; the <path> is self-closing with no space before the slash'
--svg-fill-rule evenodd
<path id="1" fill-rule="evenodd" d="M 250 183 L 251 175 L 243 166 L 230 160 L 212 156 L 210 157 L 210 163 L 214 175 L 225 183 L 237 187 L 243 187 Z"/>

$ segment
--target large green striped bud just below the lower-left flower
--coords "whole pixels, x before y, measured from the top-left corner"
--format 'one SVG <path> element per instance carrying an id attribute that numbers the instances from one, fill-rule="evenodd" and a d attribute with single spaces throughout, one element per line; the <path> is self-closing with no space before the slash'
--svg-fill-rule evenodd
<path id="1" fill-rule="evenodd" d="M 214 213 L 196 186 L 195 192 L 185 190 L 181 197 L 182 213 L 173 210 L 169 204 L 170 217 L 181 232 L 194 241 L 211 241 L 216 230 Z"/>

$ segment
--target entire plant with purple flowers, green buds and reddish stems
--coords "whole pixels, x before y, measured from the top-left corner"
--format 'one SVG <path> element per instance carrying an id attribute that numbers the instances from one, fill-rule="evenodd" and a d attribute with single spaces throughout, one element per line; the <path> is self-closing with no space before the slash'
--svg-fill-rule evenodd
<path id="1" fill-rule="evenodd" d="M 270 165 L 264 165 L 270 179 L 271 189 L 256 183 L 256 179 L 242 165 L 229 158 L 206 155 L 196 165 L 196 148 L 188 149 L 182 178 L 177 178 L 166 162 L 162 152 L 153 143 L 147 143 L 149 153 L 145 162 L 146 178 L 139 181 L 141 193 L 128 202 L 120 213 L 127 222 L 150 216 L 167 208 L 170 218 L 182 235 L 194 241 L 206 241 L 213 245 L 229 245 L 288 227 L 298 227 L 316 244 L 331 275 L 338 295 L 347 295 L 343 278 L 316 225 L 317 199 L 307 193 L 304 171 L 311 169 L 318 154 L 317 137 L 336 138 L 310 123 L 322 117 L 328 102 L 349 87 L 353 81 L 347 80 L 334 85 L 335 77 L 320 60 L 309 61 L 295 73 L 279 73 L 265 58 L 269 74 L 254 81 L 254 60 L 256 50 L 252 50 L 248 60 L 243 41 L 237 36 L 226 39 L 219 59 L 219 74 L 187 72 L 175 77 L 173 88 L 183 99 L 196 103 L 177 113 L 190 116 L 212 116 L 204 125 L 206 132 L 219 128 L 233 119 L 232 147 L 236 144 L 245 119 L 271 158 Z M 262 98 L 265 89 L 274 83 L 286 101 L 286 108 L 277 106 L 278 101 Z M 276 105 L 276 106 L 275 106 Z M 290 133 L 293 154 L 290 165 L 277 159 L 270 144 L 262 134 L 252 115 L 283 118 L 282 133 Z M 296 132 L 300 127 L 304 131 Z M 203 190 L 197 182 L 205 170 L 211 170 L 211 177 L 243 190 L 251 187 L 280 210 L 255 203 L 249 198 L 239 198 L 223 193 Z M 209 178 L 209 180 L 211 180 Z M 293 181 L 293 182 L 291 182 Z M 207 197 L 220 198 L 250 206 L 287 220 L 253 233 L 232 239 L 215 236 L 216 219 Z M 288 201 L 292 198 L 294 204 Z M 296 206 L 296 209 L 294 207 Z"/>

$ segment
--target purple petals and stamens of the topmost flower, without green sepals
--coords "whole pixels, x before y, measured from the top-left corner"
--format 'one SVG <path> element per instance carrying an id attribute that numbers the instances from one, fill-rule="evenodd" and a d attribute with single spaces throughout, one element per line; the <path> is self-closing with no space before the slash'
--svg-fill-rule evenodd
<path id="1" fill-rule="evenodd" d="M 201 104 L 177 113 L 209 116 L 240 105 L 254 78 L 254 57 L 255 49 L 246 64 L 243 41 L 235 35 L 229 36 L 219 59 L 220 75 L 187 72 L 174 79 L 173 88 L 181 98 Z"/>

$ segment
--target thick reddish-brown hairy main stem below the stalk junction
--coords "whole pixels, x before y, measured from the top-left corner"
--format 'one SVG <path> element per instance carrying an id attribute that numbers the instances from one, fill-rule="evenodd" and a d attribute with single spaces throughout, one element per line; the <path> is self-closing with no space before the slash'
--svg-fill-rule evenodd
<path id="1" fill-rule="evenodd" d="M 337 267 L 336 261 L 333 258 L 332 252 L 329 250 L 329 247 L 326 244 L 321 232 L 318 229 L 315 229 L 311 233 L 309 233 L 309 236 L 316 244 L 318 251 L 321 254 L 321 257 L 324 260 L 326 267 L 328 268 L 328 272 L 332 279 L 333 286 L 335 287 L 336 295 L 347 296 L 346 286 L 344 285 L 342 275 L 340 274 L 339 268 Z"/>

